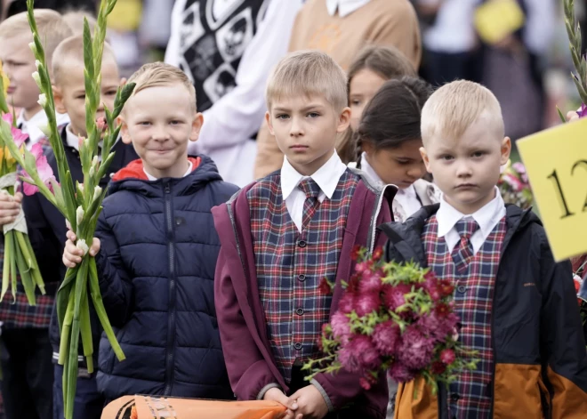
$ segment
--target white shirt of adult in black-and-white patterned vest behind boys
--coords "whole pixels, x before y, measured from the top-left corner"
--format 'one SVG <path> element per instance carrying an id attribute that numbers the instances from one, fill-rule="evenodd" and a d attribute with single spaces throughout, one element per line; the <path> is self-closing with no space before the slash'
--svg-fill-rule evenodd
<path id="1" fill-rule="evenodd" d="M 165 62 L 178 67 L 182 57 L 182 13 L 186 0 L 173 5 L 172 36 L 165 51 Z M 302 0 L 271 0 L 237 69 L 237 85 L 213 107 L 206 109 L 204 125 L 197 142 L 190 142 L 189 154 L 211 157 L 224 181 L 243 187 L 253 181 L 257 142 L 251 138 L 267 111 L 265 86 L 269 72 L 287 53 L 294 20 Z"/>

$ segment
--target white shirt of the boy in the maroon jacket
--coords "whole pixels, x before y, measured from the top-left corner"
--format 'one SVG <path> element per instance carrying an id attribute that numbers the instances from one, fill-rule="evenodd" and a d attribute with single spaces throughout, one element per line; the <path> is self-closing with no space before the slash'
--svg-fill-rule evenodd
<path id="1" fill-rule="evenodd" d="M 318 183 L 320 187 L 318 201 L 322 203 L 326 197 L 328 199 L 333 197 L 338 181 L 346 170 L 347 166 L 342 163 L 341 157 L 338 157 L 336 153 L 311 176 L 300 174 L 289 163 L 287 157 L 284 157 L 284 165 L 281 167 L 281 194 L 285 200 L 287 212 L 300 232 L 302 232 L 303 204 L 306 201 L 306 194 L 298 188 L 300 182 L 310 177 Z"/>

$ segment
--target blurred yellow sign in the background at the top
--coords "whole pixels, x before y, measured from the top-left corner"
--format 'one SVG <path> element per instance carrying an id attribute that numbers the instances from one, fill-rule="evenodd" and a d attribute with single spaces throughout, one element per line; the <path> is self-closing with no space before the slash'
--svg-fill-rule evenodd
<path id="1" fill-rule="evenodd" d="M 475 11 L 475 27 L 487 44 L 502 41 L 522 28 L 524 20 L 524 12 L 516 0 L 492 0 Z"/>

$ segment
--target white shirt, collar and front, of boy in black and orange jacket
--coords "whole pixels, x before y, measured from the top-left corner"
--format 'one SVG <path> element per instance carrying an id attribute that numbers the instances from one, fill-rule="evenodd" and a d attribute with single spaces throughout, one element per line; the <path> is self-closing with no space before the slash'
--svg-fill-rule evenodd
<path id="1" fill-rule="evenodd" d="M 465 215 L 456 210 L 453 205 L 446 202 L 445 198 L 440 199 L 440 208 L 436 213 L 438 221 L 438 238 L 445 238 L 446 247 L 449 253 L 453 252 L 454 246 L 461 241 L 461 236 L 454 225 L 462 218 L 473 218 L 479 225 L 479 229 L 470 237 L 470 244 L 473 246 L 473 254 L 483 246 L 487 237 L 495 229 L 500 220 L 505 216 L 505 204 L 502 194 L 495 187 L 495 198 L 479 209 L 476 213 Z"/>

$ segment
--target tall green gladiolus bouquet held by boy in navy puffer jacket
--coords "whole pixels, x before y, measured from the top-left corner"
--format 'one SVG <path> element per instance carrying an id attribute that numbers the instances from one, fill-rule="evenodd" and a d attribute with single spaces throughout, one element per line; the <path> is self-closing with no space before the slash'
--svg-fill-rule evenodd
<path id="1" fill-rule="evenodd" d="M 57 293 L 57 313 L 60 325 L 59 363 L 64 366 L 63 398 L 66 419 L 73 416 L 74 398 L 76 395 L 77 350 L 81 334 L 84 356 L 87 359 L 88 372 L 93 371 L 92 332 L 90 326 L 89 297 L 100 318 L 109 342 L 117 358 L 125 359 L 116 336 L 110 326 L 106 310 L 101 301 L 100 287 L 96 263 L 88 254 L 88 245 L 92 242 L 98 216 L 101 213 L 101 202 L 106 194 L 99 186 L 101 178 L 107 173 L 109 164 L 114 157 L 110 151 L 117 140 L 120 127 L 116 119 L 125 101 L 133 93 L 134 85 L 125 85 L 117 92 L 114 109 L 105 109 L 106 121 L 96 121 L 96 111 L 101 98 L 101 59 L 106 36 L 106 20 L 117 0 L 102 0 L 98 13 L 98 23 L 92 38 L 87 20 L 84 20 L 84 77 L 85 77 L 85 109 L 86 131 L 88 138 L 80 139 L 80 160 L 84 172 L 84 183 L 73 184 L 68 161 L 65 157 L 63 143 L 57 129 L 55 104 L 52 95 L 49 69 L 44 58 L 43 44 L 33 14 L 34 0 L 27 0 L 28 23 L 33 32 L 34 42 L 30 48 L 36 57 L 37 71 L 32 77 L 41 90 L 39 104 L 48 118 L 48 134 L 57 163 L 60 183 L 55 181 L 51 169 L 44 165 L 42 157 L 38 157 L 27 149 L 19 147 L 8 136 L 10 126 L 5 122 L 0 130 L 0 137 L 10 150 L 12 157 L 26 171 L 23 181 L 34 185 L 44 197 L 55 205 L 68 221 L 71 230 L 78 238 L 76 246 L 84 251 L 83 262 L 75 269 L 68 270 Z M 1 94 L 1 93 L 0 93 Z M 101 159 L 98 156 L 99 141 L 103 141 Z M 88 289 L 89 288 L 89 289 Z"/>

